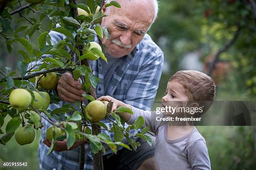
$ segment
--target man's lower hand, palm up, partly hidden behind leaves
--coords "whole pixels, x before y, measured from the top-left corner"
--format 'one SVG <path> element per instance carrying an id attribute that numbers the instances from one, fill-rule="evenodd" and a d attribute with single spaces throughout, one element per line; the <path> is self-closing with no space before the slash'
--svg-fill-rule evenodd
<path id="1" fill-rule="evenodd" d="M 52 142 L 52 140 L 44 140 L 43 141 L 43 143 L 46 146 L 48 146 L 49 148 L 51 147 L 51 142 Z M 61 152 L 64 150 L 73 150 L 74 148 L 77 148 L 78 146 L 82 145 L 85 142 L 86 142 L 86 140 L 78 140 L 77 142 L 74 143 L 74 145 L 71 148 L 67 149 L 67 139 L 64 139 L 62 141 L 56 141 L 54 150 L 57 152 Z"/>

